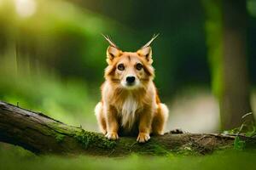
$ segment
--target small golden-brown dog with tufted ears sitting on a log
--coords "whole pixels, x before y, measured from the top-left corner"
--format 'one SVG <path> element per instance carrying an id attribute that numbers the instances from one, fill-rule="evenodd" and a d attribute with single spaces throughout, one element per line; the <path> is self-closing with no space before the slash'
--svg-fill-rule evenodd
<path id="1" fill-rule="evenodd" d="M 102 101 L 96 105 L 96 119 L 108 139 L 118 133 L 138 133 L 137 141 L 146 142 L 149 133 L 162 135 L 168 118 L 166 105 L 160 103 L 154 86 L 154 68 L 150 43 L 137 52 L 123 52 L 110 39 L 107 49 L 106 81 Z"/>

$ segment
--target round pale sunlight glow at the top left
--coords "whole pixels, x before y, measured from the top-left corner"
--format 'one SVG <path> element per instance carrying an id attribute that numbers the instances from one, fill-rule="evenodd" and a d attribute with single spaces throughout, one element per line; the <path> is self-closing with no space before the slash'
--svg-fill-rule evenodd
<path id="1" fill-rule="evenodd" d="M 37 3 L 34 0 L 15 0 L 15 9 L 20 17 L 30 17 L 35 14 Z"/>

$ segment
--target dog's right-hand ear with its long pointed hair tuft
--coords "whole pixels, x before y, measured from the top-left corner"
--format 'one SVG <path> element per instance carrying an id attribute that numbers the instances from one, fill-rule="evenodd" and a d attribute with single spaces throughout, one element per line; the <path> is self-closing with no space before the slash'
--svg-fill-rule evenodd
<path id="1" fill-rule="evenodd" d="M 151 40 L 149 42 L 147 42 L 145 45 L 143 45 L 142 48 L 140 48 L 139 50 L 137 50 L 137 54 L 139 54 L 140 56 L 144 57 L 149 64 L 153 63 L 153 59 L 152 59 L 152 49 L 150 47 L 151 42 L 154 41 L 154 39 L 156 37 L 158 37 L 159 34 L 154 35 Z"/>

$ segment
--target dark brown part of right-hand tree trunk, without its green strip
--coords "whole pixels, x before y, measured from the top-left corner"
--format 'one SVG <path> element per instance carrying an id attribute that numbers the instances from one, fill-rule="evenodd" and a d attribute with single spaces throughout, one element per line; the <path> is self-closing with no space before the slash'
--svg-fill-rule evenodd
<path id="1" fill-rule="evenodd" d="M 241 126 L 252 111 L 247 73 L 247 1 L 224 0 L 224 77 L 220 103 L 224 129 Z M 246 117 L 254 121 L 253 115 Z"/>

